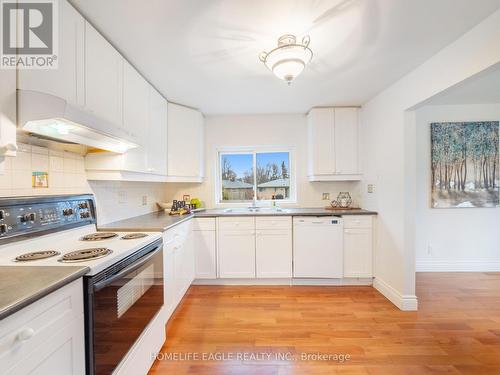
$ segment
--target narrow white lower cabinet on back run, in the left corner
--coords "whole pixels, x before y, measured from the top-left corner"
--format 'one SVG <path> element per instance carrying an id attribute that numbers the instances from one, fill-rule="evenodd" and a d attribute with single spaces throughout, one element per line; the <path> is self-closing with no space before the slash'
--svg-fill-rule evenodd
<path id="1" fill-rule="evenodd" d="M 195 278 L 215 279 L 217 277 L 215 218 L 194 219 L 193 245 L 195 253 Z"/>

